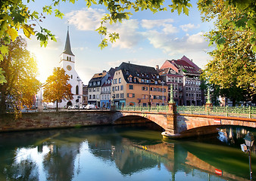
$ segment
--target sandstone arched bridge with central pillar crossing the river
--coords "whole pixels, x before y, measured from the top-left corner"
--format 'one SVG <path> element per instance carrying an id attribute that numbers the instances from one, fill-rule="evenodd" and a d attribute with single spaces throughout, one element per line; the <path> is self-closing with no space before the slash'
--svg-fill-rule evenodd
<path id="1" fill-rule="evenodd" d="M 114 124 L 120 118 L 139 116 L 155 122 L 164 128 L 163 137 L 182 138 L 216 133 L 222 125 L 256 127 L 256 118 L 237 118 L 217 115 L 194 115 L 176 113 L 176 105 L 169 104 L 167 112 L 117 111 L 114 113 Z"/>

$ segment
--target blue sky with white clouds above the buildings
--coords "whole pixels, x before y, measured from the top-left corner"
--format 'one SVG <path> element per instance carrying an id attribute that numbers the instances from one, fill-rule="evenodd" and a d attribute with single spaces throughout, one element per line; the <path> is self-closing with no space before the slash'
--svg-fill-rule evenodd
<path id="1" fill-rule="evenodd" d="M 192 1 L 195 2 L 195 1 Z M 30 2 L 28 7 L 42 12 L 44 5 L 51 5 L 50 0 Z M 93 5 L 86 8 L 84 1 L 75 4 L 61 2 L 57 7 L 64 18 L 46 15 L 40 26 L 51 30 L 57 42 L 49 41 L 46 48 L 41 48 L 36 37 L 27 39 L 27 49 L 32 52 L 39 67 L 39 81 L 45 82 L 52 75 L 54 67 L 60 66 L 60 55 L 64 51 L 69 26 L 70 44 L 75 55 L 75 69 L 83 84 L 88 84 L 95 73 L 108 71 L 120 66 L 122 62 L 142 66 L 161 65 L 165 60 L 177 60 L 185 55 L 201 69 L 211 60 L 207 52 L 211 51 L 204 32 L 213 28 L 212 23 L 202 23 L 197 5 L 192 4 L 189 16 L 171 13 L 170 9 L 153 14 L 151 11 L 133 12 L 130 20 L 108 26 L 109 32 L 118 32 L 120 39 L 108 44 L 101 50 L 98 44 L 101 35 L 95 29 L 100 26 L 101 17 L 106 8 Z M 21 34 L 20 34 L 21 35 Z"/>

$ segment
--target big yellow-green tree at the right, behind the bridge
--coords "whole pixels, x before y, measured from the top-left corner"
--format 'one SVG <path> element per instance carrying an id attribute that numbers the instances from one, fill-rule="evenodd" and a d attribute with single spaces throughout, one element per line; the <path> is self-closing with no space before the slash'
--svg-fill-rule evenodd
<path id="1" fill-rule="evenodd" d="M 244 14 L 239 12 L 239 8 L 230 5 L 228 8 L 224 1 L 215 2 L 208 6 L 208 12 L 204 14 L 204 19 L 215 20 L 215 29 L 206 36 L 214 41 L 218 41 L 217 47 L 209 54 L 213 57 L 202 76 L 211 84 L 217 84 L 220 89 L 239 87 L 250 88 L 252 93 L 256 85 L 256 59 L 254 52 L 254 31 L 245 24 L 240 27 L 236 22 L 230 25 L 227 18 L 231 20 L 240 17 L 240 23 L 244 22 Z"/>

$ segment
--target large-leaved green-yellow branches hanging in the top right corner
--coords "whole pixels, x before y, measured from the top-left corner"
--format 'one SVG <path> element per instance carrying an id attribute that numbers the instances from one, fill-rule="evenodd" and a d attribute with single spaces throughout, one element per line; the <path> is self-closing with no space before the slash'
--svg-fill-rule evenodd
<path id="1" fill-rule="evenodd" d="M 254 0 L 198 0 L 198 9 L 201 11 L 202 20 L 216 20 L 214 34 L 210 38 L 211 44 L 217 44 L 218 49 L 223 49 L 226 41 L 236 41 L 235 37 L 225 37 L 226 30 L 231 32 L 251 32 L 248 40 L 251 48 L 256 52 L 256 2 Z"/>

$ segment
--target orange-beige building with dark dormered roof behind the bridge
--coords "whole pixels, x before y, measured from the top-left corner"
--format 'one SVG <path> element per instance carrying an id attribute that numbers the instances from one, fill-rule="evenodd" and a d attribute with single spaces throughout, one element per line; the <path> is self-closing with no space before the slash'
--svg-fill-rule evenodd
<path id="1" fill-rule="evenodd" d="M 164 94 L 164 97 L 163 97 Z M 154 67 L 121 63 L 114 73 L 111 95 L 119 106 L 167 105 L 167 86 Z"/>

